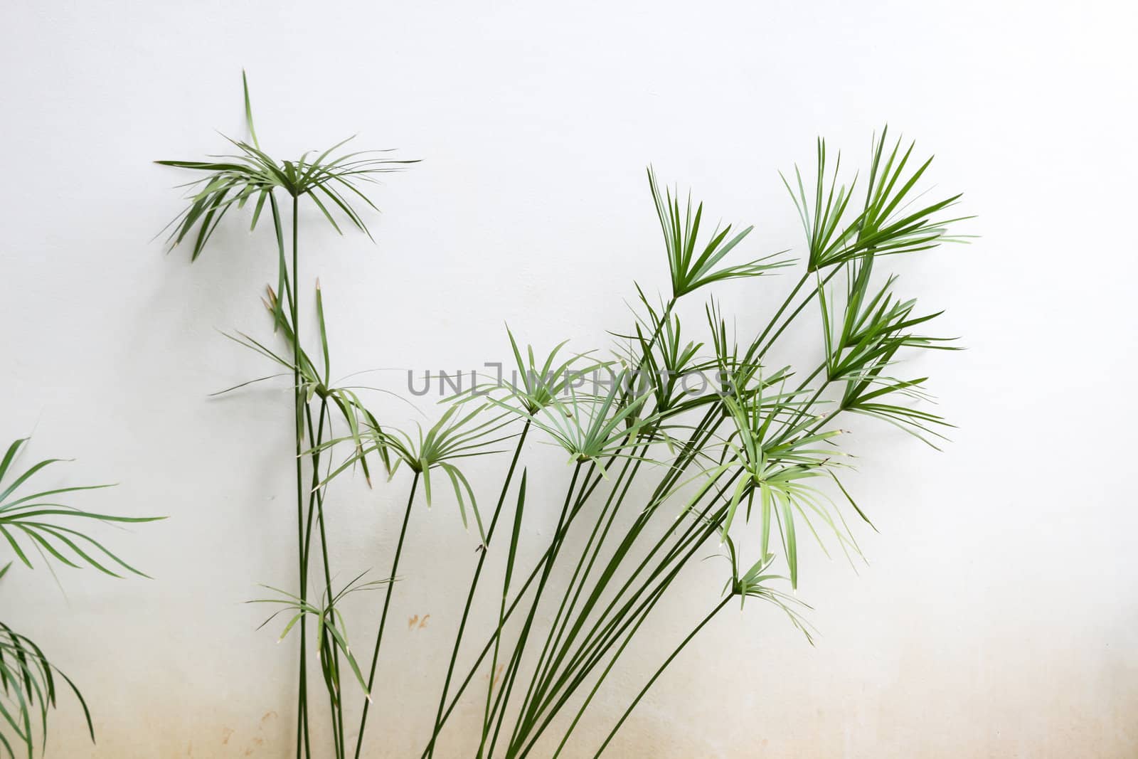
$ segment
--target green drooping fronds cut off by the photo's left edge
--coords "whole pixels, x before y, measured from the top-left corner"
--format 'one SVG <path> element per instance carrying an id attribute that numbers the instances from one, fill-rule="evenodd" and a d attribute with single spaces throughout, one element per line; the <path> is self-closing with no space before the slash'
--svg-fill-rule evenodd
<path id="1" fill-rule="evenodd" d="M 147 577 L 91 537 L 83 527 L 150 522 L 164 518 L 116 517 L 60 503 L 72 494 L 110 485 L 72 485 L 28 493 L 28 485 L 36 475 L 63 460 L 47 459 L 17 471 L 16 462 L 26 444 L 27 438 L 15 440 L 0 460 L 0 537 L 3 538 L 0 545 L 15 554 L 11 561 L 0 566 L 0 579 L 16 562 L 32 569 L 35 556 L 52 575 L 51 563 L 56 562 L 73 569 L 91 567 L 116 578 L 125 575 Z M 0 757 L 16 759 L 18 753 L 32 759 L 36 743 L 46 750 L 49 710 L 56 708 L 60 691 L 69 690 L 75 695 L 94 741 L 91 712 L 75 683 L 30 637 L 10 627 L 9 621 L 0 619 Z"/>

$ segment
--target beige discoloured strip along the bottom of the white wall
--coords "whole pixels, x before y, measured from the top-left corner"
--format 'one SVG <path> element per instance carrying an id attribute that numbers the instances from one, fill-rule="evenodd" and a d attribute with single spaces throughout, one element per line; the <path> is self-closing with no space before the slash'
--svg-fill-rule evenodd
<path id="1" fill-rule="evenodd" d="M 956 674 L 954 674 L 956 673 Z M 670 686 L 645 699 L 611 746 L 622 759 L 1073 759 L 1138 756 L 1138 667 L 1115 658 L 1098 671 L 1075 662 L 1015 662 L 995 687 L 981 688 L 966 667 L 937 661 L 914 646 L 902 657 L 901 677 L 879 692 L 842 699 L 841 706 L 809 707 L 798 693 L 782 701 L 777 687 L 756 700 L 759 709 L 741 713 L 739 704 L 701 677 L 681 667 Z M 691 690 L 677 692 L 681 685 Z M 411 693 L 414 695 L 414 691 Z M 319 693 L 314 693 L 319 696 Z M 612 703 L 620 702 L 617 694 Z M 827 702 L 830 700 L 827 699 Z M 401 700 L 412 721 L 430 711 L 429 699 Z M 319 698 L 314 709 L 320 709 Z M 679 706 L 677 706 L 679 704 Z M 368 759 L 418 756 L 407 741 L 404 712 L 378 723 L 363 752 Z M 602 707 L 603 708 L 603 707 Z M 785 708 L 785 709 L 783 709 Z M 284 715 L 282 717 L 282 713 Z M 440 744 L 440 759 L 470 754 L 468 737 L 480 726 L 479 709 L 460 709 Z M 420 723 L 422 720 L 419 720 Z M 385 724 L 386 723 L 386 724 Z M 398 725 L 399 735 L 388 743 Z M 587 759 L 610 721 L 594 715 L 576 734 L 579 744 L 562 753 Z M 216 706 L 196 710 L 151 711 L 135 729 L 129 720 L 100 719 L 99 742 L 91 746 L 77 732 L 61 731 L 49 744 L 48 759 L 187 757 L 287 757 L 292 723 L 287 712 L 226 712 Z M 428 727 L 423 723 L 423 727 Z M 386 729 L 384 729 L 386 728 Z M 419 734 L 422 734 L 421 732 Z M 176 743 L 178 735 L 192 735 Z M 761 737 L 757 737 L 761 736 Z M 314 745 L 330 736 L 314 724 Z M 544 746 L 544 744 L 543 744 Z M 542 749 L 539 749 L 541 751 Z M 549 749 L 552 752 L 552 746 Z M 534 756 L 544 756 L 535 752 Z"/>

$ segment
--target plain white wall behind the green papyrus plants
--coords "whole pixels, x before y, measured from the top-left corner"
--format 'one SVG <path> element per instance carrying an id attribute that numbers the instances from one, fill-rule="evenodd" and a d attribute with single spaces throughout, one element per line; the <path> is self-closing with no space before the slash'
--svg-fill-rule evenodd
<path id="1" fill-rule="evenodd" d="M 271 150 L 358 131 L 423 158 L 379 190 L 378 246 L 305 236 L 345 373 L 473 368 L 504 357 L 503 321 L 543 346 L 603 344 L 633 279 L 667 284 L 650 162 L 757 224 L 759 253 L 799 245 L 776 170 L 810 160 L 815 135 L 864 164 L 888 121 L 937 152 L 938 190 L 965 191 L 983 237 L 897 265 L 968 348 L 920 360 L 954 442 L 858 427 L 852 481 L 881 533 L 860 533 L 858 575 L 806 556 L 817 647 L 758 604 L 717 618 L 612 753 L 1138 752 L 1129 3 L 17 1 L 0 20 L 3 434 L 77 457 L 73 481 L 121 482 L 93 506 L 171 517 L 109 538 L 154 580 L 0 584 L 5 620 L 96 710 L 98 746 L 67 702 L 49 757 L 287 756 L 290 644 L 241 602 L 292 580 L 288 390 L 206 397 L 265 373 L 215 329 L 263 330 L 271 242 L 233 218 L 191 266 L 151 241 L 182 176 L 149 162 L 241 135 L 242 66 Z M 785 286 L 724 289 L 744 335 Z M 531 463 L 561 487 L 558 456 Z M 344 572 L 386 564 L 405 488 L 337 493 Z M 445 500 L 409 541 L 372 757 L 418 756 L 473 560 Z M 685 576 L 575 756 L 719 580 L 714 563 Z M 353 620 L 370 636 L 372 614 Z"/>

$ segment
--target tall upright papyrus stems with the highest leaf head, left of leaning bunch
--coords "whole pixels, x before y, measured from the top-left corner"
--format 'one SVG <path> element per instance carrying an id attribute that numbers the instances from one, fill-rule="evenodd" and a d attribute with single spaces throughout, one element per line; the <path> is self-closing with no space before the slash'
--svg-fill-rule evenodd
<path id="1" fill-rule="evenodd" d="M 361 207 L 376 209 L 368 197 L 369 188 L 382 174 L 398 171 L 411 160 L 398 160 L 384 150 L 348 150 L 349 140 L 343 140 L 325 150 L 313 150 L 296 158 L 278 159 L 261 148 L 253 121 L 248 84 L 245 82 L 245 115 L 249 141 L 230 140 L 232 151 L 214 156 L 208 160 L 159 160 L 164 166 L 189 170 L 197 179 L 188 185 L 188 204 L 170 224 L 171 247 L 191 244 L 190 258 L 196 259 L 205 249 L 221 220 L 232 209 L 251 206 L 250 229 L 256 229 L 266 208 L 277 244 L 278 277 L 277 289 L 269 289 L 265 305 L 271 314 L 273 328 L 286 343 L 286 350 L 266 345 L 245 333 L 237 333 L 234 340 L 261 353 L 284 373 L 292 377 L 292 409 L 289 413 L 291 435 L 295 440 L 295 489 L 297 528 L 297 589 L 279 592 L 278 597 L 263 600 L 265 603 L 283 604 L 291 612 L 284 626 L 284 634 L 299 628 L 299 662 L 297 690 L 296 754 L 312 756 L 310 737 L 308 703 L 308 619 L 314 619 L 315 644 L 320 670 L 330 708 L 333 752 L 344 757 L 347 752 L 344 727 L 344 680 L 341 658 L 368 695 L 370 678 L 365 682 L 362 668 L 356 662 L 347 642 L 347 630 L 336 603 L 345 593 L 374 588 L 374 583 L 356 585 L 349 583 L 340 592 L 332 591 L 332 559 L 328 552 L 327 514 L 324 511 L 324 488 L 320 487 L 321 454 L 325 442 L 336 435 L 333 426 L 341 426 L 353 439 L 356 449 L 362 449 L 360 430 L 378 430 L 374 416 L 360 402 L 351 387 L 332 381 L 328 331 L 324 323 L 323 299 L 315 278 L 302 278 L 299 248 L 302 203 L 311 203 L 319 208 L 327 223 L 341 232 L 341 225 L 369 233 Z M 349 138 L 351 139 L 351 138 Z M 302 308 L 304 292 L 314 291 L 319 323 L 320 353 L 313 360 L 302 345 Z M 274 376 L 275 377 L 275 376 Z M 270 379 L 270 378 L 262 378 Z M 261 381 L 261 380 L 254 380 Z M 248 385 L 248 383 L 245 383 Z M 232 389 L 232 388 L 231 388 Z M 384 467 L 390 464 L 385 447 L 379 456 Z M 365 457 L 361 456 L 364 475 L 370 479 Z M 327 471 L 324 472 L 327 475 Z M 313 539 L 319 541 L 319 556 L 322 569 L 322 596 L 320 603 L 310 601 L 310 569 Z M 394 577 L 397 559 L 393 567 Z M 380 580 L 382 583 L 382 580 Z M 388 593 L 388 597 L 389 597 Z M 280 611 L 278 611 L 280 613 Z M 274 614 L 275 617 L 275 614 Z M 385 605 L 386 618 L 386 605 Z M 382 627 L 381 627 L 382 629 Z M 378 643 L 377 643 L 378 649 Z M 372 667 L 374 670 L 374 666 Z"/>

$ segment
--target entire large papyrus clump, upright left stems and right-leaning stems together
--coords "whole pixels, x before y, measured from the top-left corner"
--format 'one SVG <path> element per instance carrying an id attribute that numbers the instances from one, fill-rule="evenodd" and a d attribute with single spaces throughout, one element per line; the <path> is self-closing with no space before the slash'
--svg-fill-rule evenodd
<path id="1" fill-rule="evenodd" d="M 247 205 L 250 226 L 267 215 L 277 244 L 278 283 L 264 299 L 277 337 L 230 337 L 279 370 L 251 382 L 292 378 L 288 419 L 296 453 L 296 585 L 258 602 L 278 607 L 271 619 L 283 622 L 281 637 L 298 633 L 297 757 L 325 756 L 313 745 L 311 731 L 318 712 L 310 700 L 310 675 L 318 670 L 327 702 L 320 718 L 329 720 L 332 756 L 361 756 L 407 525 L 414 504 L 420 497 L 430 504 L 439 482 L 453 493 L 463 522 L 477 531 L 479 550 L 434 727 L 423 736 L 423 758 L 435 756 L 444 727 L 464 699 L 481 715 L 479 734 L 464 736 L 465 754 L 561 754 L 652 610 L 709 544 L 718 546 L 729 567 L 726 584 L 721 591 L 709 589 L 706 612 L 627 709 L 609 720 L 611 729 L 600 745 L 574 746 L 575 752 L 595 750 L 600 756 L 645 692 L 733 599 L 740 607 L 747 599 L 775 604 L 809 637 L 805 604 L 785 592 L 798 586 L 800 536 L 808 534 L 823 550 L 836 546 L 852 561 L 859 551 L 848 517 L 869 521 L 841 480 L 849 454 L 839 445 L 838 424 L 860 414 L 930 445 L 946 424 L 923 407 L 925 378 L 899 372 L 906 354 L 953 346 L 923 332 L 938 314 L 917 311 L 914 300 L 897 295 L 896 278 L 876 273 L 890 255 L 963 239 L 950 234 L 950 226 L 965 218 L 951 214 L 959 196 L 924 198 L 921 184 L 931 158 L 917 159 L 912 145 L 890 140 L 885 130 L 872 141 L 865 179 L 846 184 L 840 159 L 831 162 L 819 140 L 813 174 L 803 178 L 795 167 L 783 178 L 805 230 L 805 261 L 782 253 L 742 264 L 728 264 L 727 256 L 751 228 L 708 232 L 702 204 L 662 188 L 649 170 L 670 294 L 653 302 L 637 287 L 635 323 L 617 333 L 619 347 L 605 358 L 592 352 L 570 355 L 564 344 L 539 354 L 522 349 L 508 333 L 513 381 L 487 382 L 478 391 L 447 398 L 434 426 L 409 434 L 381 424 L 361 398 L 361 388 L 330 379 L 319 281 L 306 302 L 314 317 L 300 308 L 310 286 L 299 274 L 297 208 L 302 200 L 311 201 L 335 231 L 346 224 L 366 232 L 360 208 L 374 208 L 368 184 L 413 162 L 382 151 L 348 151 L 344 143 L 278 160 L 261 149 L 247 85 L 245 108 L 251 142 L 231 141 L 233 155 L 159 163 L 199 174 L 185 211 L 172 222 L 172 245 L 191 242 L 196 258 L 222 217 Z M 708 337 L 686 337 L 676 308 L 681 298 L 726 280 L 792 269 L 799 270 L 798 278 L 753 339 L 740 344 L 715 300 L 704 310 Z M 814 310 L 820 314 L 817 363 L 780 365 L 772 358 L 780 338 Z M 302 321 L 314 325 L 305 330 L 313 350 L 302 340 Z M 585 377 L 601 381 L 586 388 Z M 693 393 L 686 381 L 691 377 L 712 378 L 714 389 Z M 567 482 L 539 486 L 528 477 L 522 454 L 538 437 L 567 452 Z M 509 463 L 492 510 L 486 510 L 486 498 L 480 506 L 463 469 L 472 457 L 500 452 L 509 454 Z M 401 465 L 412 478 L 394 554 L 385 559 L 389 572 L 365 580 L 366 571 L 354 568 L 352 581 L 333 587 L 329 482 L 358 469 L 370 485 L 377 468 L 390 480 Z M 630 495 L 638 492 L 633 485 L 645 480 L 651 495 Z M 536 566 L 519 567 L 519 545 L 536 537 L 525 523 L 533 519 L 527 493 L 533 500 L 537 487 L 543 494 L 561 492 L 556 527 L 541 546 Z M 575 538 L 567 539 L 572 531 Z M 508 535 L 505 545 L 500 533 Z M 505 559 L 496 578 L 484 572 L 490 551 Z M 483 580 L 500 588 L 494 592 L 496 624 L 476 633 L 468 622 Z M 348 594 L 366 591 L 378 592 L 381 602 L 376 604 L 370 655 L 357 659 L 360 649 L 348 642 L 340 605 Z M 463 647 L 475 658 L 469 668 L 457 666 Z M 471 687 L 481 682 L 476 676 L 487 673 L 494 676 L 487 676 L 486 687 Z M 353 693 L 360 694 L 362 707 L 358 725 L 348 729 L 345 707 Z M 376 736 L 381 741 L 381 733 Z M 457 750 L 447 749 L 446 756 L 459 756 Z"/>

